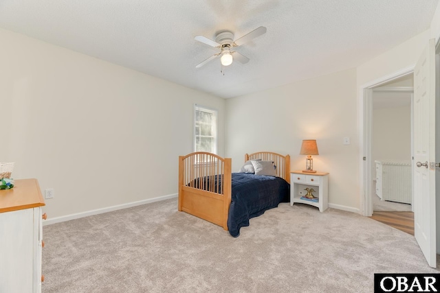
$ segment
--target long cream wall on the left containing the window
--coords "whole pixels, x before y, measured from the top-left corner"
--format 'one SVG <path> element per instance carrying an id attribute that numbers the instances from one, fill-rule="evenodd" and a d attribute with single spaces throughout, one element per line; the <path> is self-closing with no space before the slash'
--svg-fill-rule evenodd
<path id="1" fill-rule="evenodd" d="M 0 40 L 0 161 L 54 188 L 50 218 L 176 194 L 194 103 L 219 110 L 224 154 L 224 99 L 7 30 Z"/>

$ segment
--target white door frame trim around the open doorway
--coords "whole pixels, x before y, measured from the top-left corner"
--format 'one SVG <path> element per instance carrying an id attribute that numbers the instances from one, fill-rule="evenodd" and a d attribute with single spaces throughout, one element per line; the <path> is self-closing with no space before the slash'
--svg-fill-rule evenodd
<path id="1" fill-rule="evenodd" d="M 360 211 L 363 215 L 373 215 L 373 201 L 371 198 L 371 128 L 373 121 L 373 88 L 387 82 L 397 80 L 414 73 L 415 65 L 396 71 L 382 78 L 373 80 L 360 86 L 359 116 L 360 116 Z"/>

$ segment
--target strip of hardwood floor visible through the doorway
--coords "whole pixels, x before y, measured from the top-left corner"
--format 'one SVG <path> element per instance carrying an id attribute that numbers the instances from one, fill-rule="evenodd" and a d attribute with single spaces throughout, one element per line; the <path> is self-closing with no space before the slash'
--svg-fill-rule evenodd
<path id="1" fill-rule="evenodd" d="M 369 218 L 414 235 L 414 213 L 412 211 L 373 211 L 373 215 Z"/>

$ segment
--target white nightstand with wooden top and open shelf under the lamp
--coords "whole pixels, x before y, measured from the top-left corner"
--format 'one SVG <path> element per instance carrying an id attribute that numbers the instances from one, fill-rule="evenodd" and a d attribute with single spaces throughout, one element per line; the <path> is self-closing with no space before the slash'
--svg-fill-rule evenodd
<path id="1" fill-rule="evenodd" d="M 318 207 L 319 211 L 325 211 L 329 207 L 329 173 L 307 173 L 294 171 L 290 173 L 290 205 L 295 202 L 309 204 Z M 314 189 L 313 195 L 317 200 L 303 199 L 308 189 Z"/>

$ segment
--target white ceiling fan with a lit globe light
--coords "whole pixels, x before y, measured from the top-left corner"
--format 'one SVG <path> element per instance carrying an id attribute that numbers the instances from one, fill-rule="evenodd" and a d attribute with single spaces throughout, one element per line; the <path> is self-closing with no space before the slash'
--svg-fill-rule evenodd
<path id="1" fill-rule="evenodd" d="M 241 55 L 237 51 L 231 51 L 231 49 L 233 47 L 239 47 L 244 43 L 248 43 L 250 40 L 256 38 L 257 36 L 265 34 L 266 31 L 266 27 L 258 27 L 249 34 L 245 34 L 237 40 L 234 40 L 234 34 L 230 31 L 219 32 L 215 36 L 215 41 L 211 40 L 210 38 L 206 38 L 205 36 L 195 36 L 195 40 L 198 40 L 203 44 L 221 49 L 219 53 L 210 56 L 210 58 L 204 60 L 203 62 L 200 62 L 195 68 L 202 67 L 203 65 L 206 65 L 206 63 L 218 57 L 220 57 L 220 62 L 223 66 L 231 65 L 233 60 L 238 60 L 243 64 L 248 63 L 248 57 Z"/>

